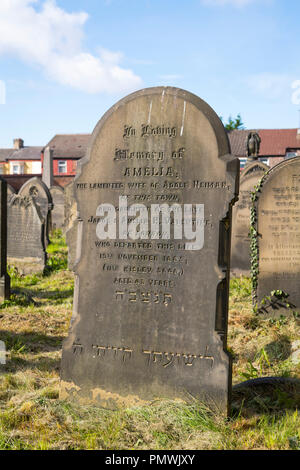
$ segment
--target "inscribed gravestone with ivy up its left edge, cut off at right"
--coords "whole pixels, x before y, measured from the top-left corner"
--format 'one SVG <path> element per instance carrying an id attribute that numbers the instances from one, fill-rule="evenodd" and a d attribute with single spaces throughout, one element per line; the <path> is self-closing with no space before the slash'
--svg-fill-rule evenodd
<path id="1" fill-rule="evenodd" d="M 287 315 L 300 310 L 300 157 L 273 167 L 262 181 L 255 202 L 257 272 L 256 302 L 266 313 Z M 266 301 L 271 292 L 272 303 Z M 280 291 L 283 291 L 283 295 Z M 285 298 L 285 294 L 289 297 Z M 293 306 L 286 308 L 286 303 Z"/>

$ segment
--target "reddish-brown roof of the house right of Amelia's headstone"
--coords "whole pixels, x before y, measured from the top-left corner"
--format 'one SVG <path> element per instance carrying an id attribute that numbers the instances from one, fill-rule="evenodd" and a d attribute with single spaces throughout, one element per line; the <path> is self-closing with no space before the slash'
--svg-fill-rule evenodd
<path id="1" fill-rule="evenodd" d="M 250 132 L 258 132 L 261 138 L 260 157 L 284 156 L 288 149 L 300 149 L 298 129 L 243 129 L 228 133 L 233 155 L 246 156 L 246 139 Z"/>

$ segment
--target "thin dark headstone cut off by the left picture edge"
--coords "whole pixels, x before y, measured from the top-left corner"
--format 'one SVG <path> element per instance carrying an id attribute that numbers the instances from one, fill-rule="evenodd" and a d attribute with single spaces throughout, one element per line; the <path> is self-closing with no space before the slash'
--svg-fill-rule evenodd
<path id="1" fill-rule="evenodd" d="M 10 277 L 7 274 L 7 183 L 0 178 L 0 302 L 10 297 Z"/>

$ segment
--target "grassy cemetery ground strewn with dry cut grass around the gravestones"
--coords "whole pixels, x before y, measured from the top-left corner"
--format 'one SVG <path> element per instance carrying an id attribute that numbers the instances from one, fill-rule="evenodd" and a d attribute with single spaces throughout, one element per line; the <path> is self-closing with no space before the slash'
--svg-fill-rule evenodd
<path id="1" fill-rule="evenodd" d="M 72 313 L 73 274 L 59 232 L 44 275 L 10 270 L 12 297 L 0 308 L 7 363 L 0 372 L 0 449 L 297 449 L 297 382 L 233 389 L 228 419 L 193 400 L 106 410 L 59 399 L 62 341 Z M 300 378 L 292 344 L 300 318 L 253 312 L 249 278 L 230 285 L 228 347 L 233 385 L 265 376 Z"/>

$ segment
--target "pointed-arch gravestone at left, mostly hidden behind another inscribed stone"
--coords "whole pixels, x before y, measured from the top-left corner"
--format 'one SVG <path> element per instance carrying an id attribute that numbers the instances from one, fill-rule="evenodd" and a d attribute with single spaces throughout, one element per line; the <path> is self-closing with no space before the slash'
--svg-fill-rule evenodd
<path id="1" fill-rule="evenodd" d="M 40 214 L 45 221 L 45 245 L 48 246 L 50 243 L 49 233 L 52 223 L 51 211 L 53 209 L 53 201 L 49 189 L 42 180 L 35 176 L 23 184 L 18 194 L 22 197 L 32 197 L 35 200 L 36 205 L 40 210 Z"/>

